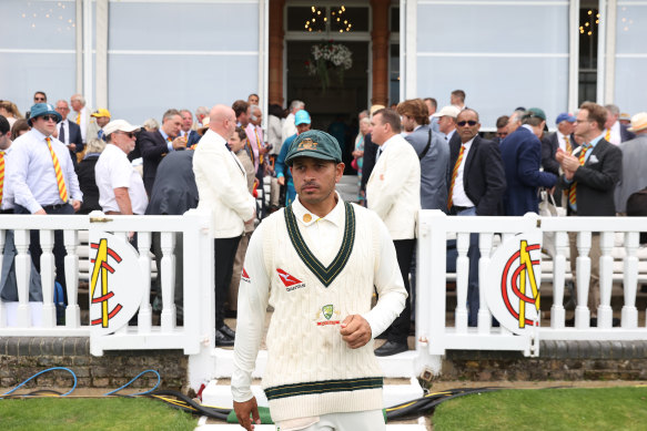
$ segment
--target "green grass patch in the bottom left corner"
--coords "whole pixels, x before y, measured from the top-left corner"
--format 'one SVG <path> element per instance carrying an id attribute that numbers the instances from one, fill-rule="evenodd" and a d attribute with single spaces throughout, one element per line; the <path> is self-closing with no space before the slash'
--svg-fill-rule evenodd
<path id="1" fill-rule="evenodd" d="M 144 398 L 0 400 L 0 429 L 43 430 L 193 430 L 198 419 L 161 401 Z"/>

